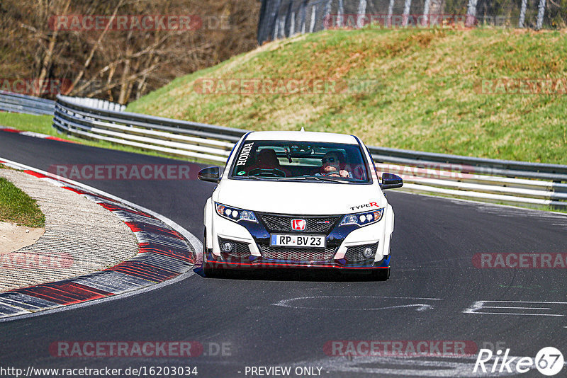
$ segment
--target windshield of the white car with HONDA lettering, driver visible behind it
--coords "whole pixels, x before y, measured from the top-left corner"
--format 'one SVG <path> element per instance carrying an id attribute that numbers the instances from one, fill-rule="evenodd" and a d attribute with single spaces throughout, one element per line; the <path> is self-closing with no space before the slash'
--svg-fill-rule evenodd
<path id="1" fill-rule="evenodd" d="M 245 141 L 230 168 L 230 178 L 325 183 L 369 183 L 358 144 Z"/>

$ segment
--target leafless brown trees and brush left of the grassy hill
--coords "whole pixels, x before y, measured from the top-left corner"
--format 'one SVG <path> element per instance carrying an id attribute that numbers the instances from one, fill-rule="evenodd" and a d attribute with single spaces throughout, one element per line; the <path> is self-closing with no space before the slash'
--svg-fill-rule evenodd
<path id="1" fill-rule="evenodd" d="M 63 79 L 64 93 L 128 103 L 176 76 L 256 47 L 257 0 L 1 0 L 0 69 L 14 78 Z M 117 30 L 124 15 L 191 15 L 200 28 Z M 53 25 L 55 16 L 107 16 L 103 28 Z M 55 93 L 36 93 L 53 97 Z"/>

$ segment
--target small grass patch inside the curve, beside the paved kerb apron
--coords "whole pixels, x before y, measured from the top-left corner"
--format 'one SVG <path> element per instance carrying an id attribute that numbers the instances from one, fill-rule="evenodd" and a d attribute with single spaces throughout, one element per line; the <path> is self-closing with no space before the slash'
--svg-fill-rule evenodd
<path id="1" fill-rule="evenodd" d="M 45 216 L 35 200 L 3 177 L 0 177 L 0 221 L 25 227 L 45 226 Z"/>

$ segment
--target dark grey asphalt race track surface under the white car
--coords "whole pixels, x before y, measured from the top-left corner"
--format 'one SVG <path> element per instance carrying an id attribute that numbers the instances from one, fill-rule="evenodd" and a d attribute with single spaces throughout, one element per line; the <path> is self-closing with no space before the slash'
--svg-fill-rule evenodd
<path id="1" fill-rule="evenodd" d="M 9 132 L 0 132 L 0 156 L 45 171 L 52 164 L 179 163 Z M 213 184 L 82 182 L 159 212 L 202 239 L 203 203 Z M 510 348 L 514 356 L 535 357 L 547 346 L 566 355 L 566 270 L 475 268 L 472 262 L 476 253 L 567 253 L 566 216 L 395 190 L 387 195 L 395 231 L 386 282 L 194 274 L 125 299 L 0 323 L 0 365 L 24 370 L 196 366 L 197 377 L 250 377 L 246 368 L 259 366 L 322 367 L 323 377 L 480 377 L 472 372 L 476 350 L 470 357 L 344 357 L 327 355 L 324 347 L 332 340 L 462 340 L 478 349 Z M 479 310 L 481 304 L 473 308 L 478 301 L 495 302 L 484 302 Z M 51 355 L 50 345 L 60 340 L 191 340 L 203 344 L 204 354 Z M 224 356 L 216 353 L 223 343 Z M 558 376 L 566 371 L 563 367 Z M 518 375 L 543 377 L 537 370 Z"/>

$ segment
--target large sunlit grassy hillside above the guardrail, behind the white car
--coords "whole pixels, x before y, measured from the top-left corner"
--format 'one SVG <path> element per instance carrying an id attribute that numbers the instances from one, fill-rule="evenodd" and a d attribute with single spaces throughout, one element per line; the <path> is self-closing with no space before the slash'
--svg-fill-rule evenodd
<path id="1" fill-rule="evenodd" d="M 366 144 L 567 164 L 567 95 L 482 94 L 483 79 L 563 79 L 564 31 L 327 30 L 272 42 L 130 103 L 249 130 L 357 134 Z M 202 94 L 200 78 L 374 79 L 344 94 Z"/>

